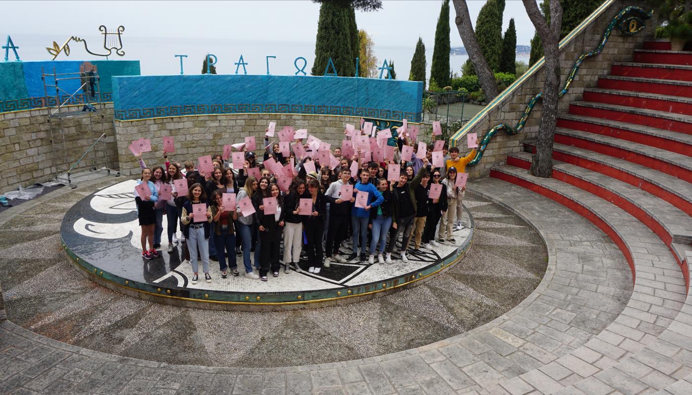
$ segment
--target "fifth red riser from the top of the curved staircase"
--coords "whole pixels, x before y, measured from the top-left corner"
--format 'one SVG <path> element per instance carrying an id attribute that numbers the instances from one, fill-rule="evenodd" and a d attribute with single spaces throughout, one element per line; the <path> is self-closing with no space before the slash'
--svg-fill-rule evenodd
<path id="1" fill-rule="evenodd" d="M 618 104 L 684 115 L 692 114 L 692 98 L 682 98 L 681 96 L 618 91 L 616 89 L 584 89 L 584 101 Z"/>

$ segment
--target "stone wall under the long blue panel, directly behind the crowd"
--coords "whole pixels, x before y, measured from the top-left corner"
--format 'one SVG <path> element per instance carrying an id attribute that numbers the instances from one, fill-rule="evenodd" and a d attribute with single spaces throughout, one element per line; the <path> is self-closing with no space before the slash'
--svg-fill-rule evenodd
<path id="1" fill-rule="evenodd" d="M 127 148 L 140 137 L 149 138 L 152 152 L 143 158 L 147 165 L 160 161 L 163 137 L 175 139 L 176 151 L 170 158 L 183 163 L 184 160 L 197 160 L 200 156 L 221 154 L 225 144 L 244 142 L 246 136 L 255 136 L 258 155 L 264 150 L 264 130 L 269 122 L 276 122 L 277 131 L 284 126 L 307 129 L 320 140 L 333 146 L 340 146 L 345 125 L 360 125 L 360 117 L 344 116 L 305 116 L 280 114 L 228 114 L 221 116 L 182 116 L 154 118 L 147 120 L 115 122 L 118 139 L 118 160 L 120 173 L 138 174 L 139 165 Z M 278 142 L 278 136 L 270 139 Z"/>

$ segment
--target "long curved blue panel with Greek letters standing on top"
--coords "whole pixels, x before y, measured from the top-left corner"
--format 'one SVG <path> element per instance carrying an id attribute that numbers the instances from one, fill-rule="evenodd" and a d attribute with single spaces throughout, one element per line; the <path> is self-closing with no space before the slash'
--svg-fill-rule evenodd
<path id="1" fill-rule="evenodd" d="M 120 120 L 217 113 L 309 113 L 421 122 L 423 83 L 290 75 L 113 78 Z"/>

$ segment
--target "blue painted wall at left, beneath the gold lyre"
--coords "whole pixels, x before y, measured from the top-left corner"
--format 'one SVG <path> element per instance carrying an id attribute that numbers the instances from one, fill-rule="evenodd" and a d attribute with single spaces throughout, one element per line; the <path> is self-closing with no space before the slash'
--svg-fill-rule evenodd
<path id="1" fill-rule="evenodd" d="M 41 68 L 45 73 L 78 73 L 84 62 L 98 68 L 101 100 L 111 101 L 113 75 L 139 75 L 138 60 L 46 60 L 37 62 L 0 62 L 0 113 L 43 107 L 45 95 Z M 48 84 L 55 84 L 52 79 Z M 79 89 L 80 80 L 64 80 L 59 86 L 61 95 L 69 96 Z M 69 93 L 66 93 L 69 92 Z M 55 97 L 55 88 L 48 87 L 48 95 Z M 53 100 L 54 101 L 54 100 Z"/>

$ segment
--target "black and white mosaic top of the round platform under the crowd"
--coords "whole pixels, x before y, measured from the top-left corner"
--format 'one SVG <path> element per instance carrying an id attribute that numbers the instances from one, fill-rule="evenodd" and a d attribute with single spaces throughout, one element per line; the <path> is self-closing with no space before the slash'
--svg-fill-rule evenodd
<path id="1" fill-rule="evenodd" d="M 421 250 L 409 253 L 409 261 L 403 262 L 397 252 L 392 254 L 392 264 L 361 263 L 357 259 L 347 263 L 333 262 L 329 268 L 324 268 L 319 274 L 308 273 L 309 264 L 303 259 L 302 273 L 269 277 L 268 282 L 247 279 L 243 276 L 221 278 L 219 264 L 210 261 L 210 273 L 213 282 L 204 281 L 191 284 L 192 266 L 181 262 L 181 244 L 175 246 L 169 254 L 166 251 L 167 220 L 163 220 L 161 246 L 162 257 L 147 261 L 140 256 L 140 229 L 136 207 L 134 204 L 135 181 L 123 181 L 105 187 L 93 195 L 82 199 L 67 212 L 62 223 L 63 240 L 75 254 L 101 270 L 108 271 L 125 279 L 156 284 L 156 286 L 195 288 L 221 292 L 284 292 L 284 291 L 315 291 L 332 288 L 347 288 L 382 282 L 387 279 L 401 277 L 416 272 L 422 268 L 437 264 L 442 258 L 457 255 L 461 244 L 468 244 L 471 233 L 471 220 L 464 213 L 462 223 L 465 228 L 457 230 L 457 243 L 441 244 L 435 250 Z M 178 232 L 180 235 L 181 232 Z M 341 255 L 348 256 L 351 244 L 345 243 Z M 242 257 L 231 257 L 244 273 Z M 233 266 L 233 265 L 231 265 Z"/>

